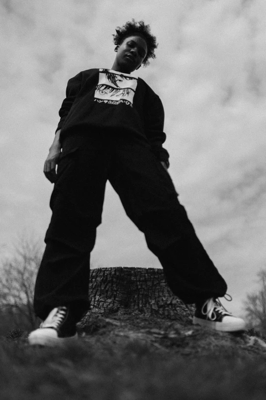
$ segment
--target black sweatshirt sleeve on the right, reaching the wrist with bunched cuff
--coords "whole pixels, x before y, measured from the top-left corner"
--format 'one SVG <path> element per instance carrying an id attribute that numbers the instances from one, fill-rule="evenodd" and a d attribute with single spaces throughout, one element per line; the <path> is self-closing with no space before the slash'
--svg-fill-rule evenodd
<path id="1" fill-rule="evenodd" d="M 151 93 L 150 93 L 151 94 Z M 153 96 L 149 95 L 146 101 L 145 110 L 145 134 L 148 138 L 151 148 L 155 156 L 160 161 L 165 161 L 167 168 L 169 168 L 169 153 L 163 148 L 163 143 L 166 140 L 164 132 L 165 112 L 161 99 L 155 93 Z"/>

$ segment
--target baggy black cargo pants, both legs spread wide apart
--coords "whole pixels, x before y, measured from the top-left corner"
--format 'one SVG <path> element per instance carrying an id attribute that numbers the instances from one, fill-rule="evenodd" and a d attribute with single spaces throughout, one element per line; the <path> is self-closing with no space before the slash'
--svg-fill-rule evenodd
<path id="1" fill-rule="evenodd" d="M 89 309 L 90 252 L 107 180 L 127 216 L 145 234 L 175 295 L 187 304 L 225 295 L 226 283 L 149 143 L 114 132 L 71 134 L 63 142 L 35 286 L 34 308 L 41 319 L 59 305 L 71 307 L 77 321 Z"/>

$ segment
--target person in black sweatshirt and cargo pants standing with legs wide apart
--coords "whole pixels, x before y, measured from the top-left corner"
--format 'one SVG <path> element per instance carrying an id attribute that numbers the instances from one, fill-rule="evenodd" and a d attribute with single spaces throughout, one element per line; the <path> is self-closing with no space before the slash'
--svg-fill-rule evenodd
<path id="1" fill-rule="evenodd" d="M 196 304 L 194 323 L 244 330 L 245 322 L 218 300 L 226 294 L 225 280 L 197 238 L 167 172 L 162 102 L 147 83 L 130 75 L 155 58 L 156 38 L 149 25 L 134 19 L 113 36 L 112 68 L 87 69 L 68 81 L 44 164 L 55 186 L 35 287 L 35 312 L 43 323 L 29 341 L 56 345 L 77 338 L 75 324 L 89 309 L 90 252 L 107 180 L 144 232 L 173 293 Z"/>

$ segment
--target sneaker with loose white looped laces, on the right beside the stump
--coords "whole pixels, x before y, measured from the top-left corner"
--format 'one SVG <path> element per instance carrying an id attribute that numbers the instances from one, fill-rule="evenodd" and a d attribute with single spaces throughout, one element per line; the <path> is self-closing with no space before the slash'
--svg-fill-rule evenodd
<path id="1" fill-rule="evenodd" d="M 234 317 L 215 298 L 209 298 L 203 305 L 196 307 L 193 323 L 223 332 L 244 331 L 246 327 L 242 318 Z"/>

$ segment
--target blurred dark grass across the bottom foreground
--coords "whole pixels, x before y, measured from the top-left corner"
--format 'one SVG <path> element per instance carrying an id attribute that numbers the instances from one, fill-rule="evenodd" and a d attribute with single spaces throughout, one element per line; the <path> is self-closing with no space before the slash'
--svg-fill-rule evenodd
<path id="1" fill-rule="evenodd" d="M 180 355 L 98 333 L 66 348 L 0 340 L 1 400 L 264 400 L 265 355 Z"/>

